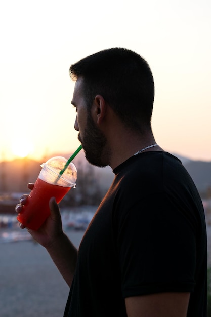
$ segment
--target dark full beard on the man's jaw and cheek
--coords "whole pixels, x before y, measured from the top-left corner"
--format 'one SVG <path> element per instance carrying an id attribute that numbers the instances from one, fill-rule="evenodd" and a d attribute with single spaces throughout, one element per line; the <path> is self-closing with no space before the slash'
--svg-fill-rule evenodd
<path id="1" fill-rule="evenodd" d="M 87 126 L 83 137 L 78 134 L 78 140 L 82 144 L 82 148 L 85 151 L 87 161 L 98 167 L 105 167 L 106 158 L 108 159 L 108 152 L 106 153 L 106 137 L 104 133 L 95 125 L 92 117 L 88 114 Z"/>

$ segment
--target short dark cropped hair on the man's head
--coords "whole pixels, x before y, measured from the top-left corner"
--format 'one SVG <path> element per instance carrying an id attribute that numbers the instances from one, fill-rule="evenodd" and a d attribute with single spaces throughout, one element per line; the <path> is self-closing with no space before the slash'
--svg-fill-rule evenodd
<path id="1" fill-rule="evenodd" d="M 130 128 L 151 129 L 154 80 L 146 60 L 125 48 L 106 49 L 71 65 L 73 80 L 81 77 L 89 107 L 97 94 Z"/>

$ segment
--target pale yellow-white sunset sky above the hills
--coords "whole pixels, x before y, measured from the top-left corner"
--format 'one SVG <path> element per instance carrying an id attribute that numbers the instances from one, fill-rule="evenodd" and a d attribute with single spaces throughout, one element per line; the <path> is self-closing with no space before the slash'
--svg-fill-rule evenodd
<path id="1" fill-rule="evenodd" d="M 69 67 L 111 47 L 151 67 L 156 142 L 211 161 L 210 0 L 7 0 L 0 29 L 0 161 L 79 146 Z"/>

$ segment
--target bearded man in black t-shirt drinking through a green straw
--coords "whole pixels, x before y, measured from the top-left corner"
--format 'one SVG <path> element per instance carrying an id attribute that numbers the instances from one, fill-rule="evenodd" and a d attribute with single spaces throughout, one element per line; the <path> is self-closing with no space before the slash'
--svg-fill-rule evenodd
<path id="1" fill-rule="evenodd" d="M 78 251 L 53 197 L 46 223 L 29 230 L 70 286 L 64 316 L 205 317 L 203 206 L 182 163 L 154 139 L 149 65 L 113 48 L 72 65 L 70 75 L 86 158 L 115 177 Z"/>

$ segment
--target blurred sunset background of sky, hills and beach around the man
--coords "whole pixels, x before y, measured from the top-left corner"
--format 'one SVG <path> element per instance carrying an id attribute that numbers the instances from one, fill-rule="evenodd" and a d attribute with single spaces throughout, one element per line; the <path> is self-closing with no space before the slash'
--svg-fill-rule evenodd
<path id="1" fill-rule="evenodd" d="M 69 67 L 99 50 L 142 55 L 155 81 L 156 142 L 178 156 L 211 228 L 211 3 L 131 0 L 8 0 L 0 4 L 0 311 L 1 316 L 62 316 L 68 287 L 46 251 L 20 230 L 14 212 L 27 183 L 52 156 L 79 146 Z M 110 167 L 75 157 L 76 189 L 61 202 L 76 246 L 113 179 Z"/>

